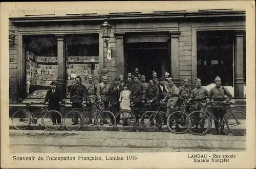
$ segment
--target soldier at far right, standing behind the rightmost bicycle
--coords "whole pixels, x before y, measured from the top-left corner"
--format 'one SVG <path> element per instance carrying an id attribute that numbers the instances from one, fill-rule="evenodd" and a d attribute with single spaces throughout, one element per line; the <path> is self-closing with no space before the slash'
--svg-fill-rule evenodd
<path id="1" fill-rule="evenodd" d="M 210 89 L 209 96 L 207 98 L 207 102 L 209 103 L 211 99 L 213 100 L 211 102 L 211 106 L 226 106 L 226 104 L 232 99 L 231 93 L 221 86 L 221 78 L 217 76 L 215 78 L 215 84 L 216 86 Z M 227 98 L 225 98 L 227 96 Z M 216 102 L 215 102 L 216 101 Z M 224 118 L 224 114 L 226 112 L 226 108 L 212 108 L 214 117 L 222 122 L 222 119 Z M 215 124 L 215 132 L 212 133 L 214 135 L 216 134 L 222 134 L 227 135 L 226 132 L 224 132 L 224 126 L 221 126 L 221 132 L 219 133 L 219 123 L 217 121 L 214 121 Z"/>

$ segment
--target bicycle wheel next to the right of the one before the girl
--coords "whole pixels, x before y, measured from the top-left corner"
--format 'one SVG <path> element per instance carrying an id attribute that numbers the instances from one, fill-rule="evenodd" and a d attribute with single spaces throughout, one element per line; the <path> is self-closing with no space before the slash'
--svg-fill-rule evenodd
<path id="1" fill-rule="evenodd" d="M 141 125 L 147 131 L 157 131 L 162 126 L 162 118 L 157 111 L 146 111 L 141 117 Z"/>

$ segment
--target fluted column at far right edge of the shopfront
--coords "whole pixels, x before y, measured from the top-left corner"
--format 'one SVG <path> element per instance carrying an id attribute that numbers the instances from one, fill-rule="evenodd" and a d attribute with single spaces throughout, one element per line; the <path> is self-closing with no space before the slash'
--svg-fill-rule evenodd
<path id="1" fill-rule="evenodd" d="M 234 53 L 234 97 L 244 98 L 244 33 L 236 33 L 236 52 Z"/>

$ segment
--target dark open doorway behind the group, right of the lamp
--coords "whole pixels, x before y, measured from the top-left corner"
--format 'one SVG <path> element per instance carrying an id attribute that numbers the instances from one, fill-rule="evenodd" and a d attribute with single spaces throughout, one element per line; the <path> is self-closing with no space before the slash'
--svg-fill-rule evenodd
<path id="1" fill-rule="evenodd" d="M 168 42 L 126 43 L 126 74 L 134 73 L 139 68 L 140 74 L 146 76 L 146 81 L 152 78 L 152 72 L 157 72 L 158 78 L 164 71 L 170 70 Z M 170 72 L 169 72 L 170 73 Z"/>

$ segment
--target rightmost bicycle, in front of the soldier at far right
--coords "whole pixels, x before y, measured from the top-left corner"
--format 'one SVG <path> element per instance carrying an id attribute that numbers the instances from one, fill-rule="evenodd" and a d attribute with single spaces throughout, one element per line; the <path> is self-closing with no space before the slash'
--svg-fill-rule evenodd
<path id="1" fill-rule="evenodd" d="M 215 101 L 217 103 L 222 103 Z M 234 134 L 234 135 L 244 135 L 246 133 L 246 112 L 243 110 L 231 110 L 230 105 L 232 103 L 228 103 L 227 106 L 210 106 L 210 103 L 207 103 L 206 108 L 204 111 L 193 111 L 191 112 L 187 119 L 186 119 L 186 126 L 190 133 L 194 135 L 204 135 L 206 134 L 212 125 L 211 119 L 214 119 L 214 121 L 217 121 L 219 123 L 219 126 L 227 126 L 228 130 Z M 207 110 L 208 108 L 223 108 L 226 109 L 224 118 L 222 119 L 221 123 L 219 122 L 219 119 L 217 120 L 214 115 L 211 115 L 211 113 Z M 227 113 L 227 109 L 229 109 L 229 113 Z M 210 118 L 211 117 L 211 118 Z M 199 130 L 198 125 L 203 126 L 200 127 L 201 130 Z M 204 125 L 208 124 L 206 129 L 204 130 Z M 233 126 L 240 125 L 242 128 L 238 129 L 235 128 L 234 130 L 231 129 Z M 238 132 L 240 131 L 240 132 Z"/>

